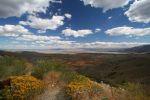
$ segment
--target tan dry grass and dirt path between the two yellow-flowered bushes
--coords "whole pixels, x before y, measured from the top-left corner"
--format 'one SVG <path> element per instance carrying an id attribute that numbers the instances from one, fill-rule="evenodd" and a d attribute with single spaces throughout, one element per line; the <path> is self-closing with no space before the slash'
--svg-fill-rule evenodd
<path id="1" fill-rule="evenodd" d="M 61 79 L 61 75 L 62 73 L 57 71 L 48 72 L 43 79 L 45 91 L 35 96 L 33 100 L 65 100 L 62 91 L 65 84 Z"/>

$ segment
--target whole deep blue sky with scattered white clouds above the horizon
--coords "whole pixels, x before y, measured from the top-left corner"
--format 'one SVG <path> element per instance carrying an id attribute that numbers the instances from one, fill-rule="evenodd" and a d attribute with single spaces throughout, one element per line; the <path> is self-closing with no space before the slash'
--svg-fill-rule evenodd
<path id="1" fill-rule="evenodd" d="M 150 44 L 150 0 L 0 0 L 0 49 Z"/>

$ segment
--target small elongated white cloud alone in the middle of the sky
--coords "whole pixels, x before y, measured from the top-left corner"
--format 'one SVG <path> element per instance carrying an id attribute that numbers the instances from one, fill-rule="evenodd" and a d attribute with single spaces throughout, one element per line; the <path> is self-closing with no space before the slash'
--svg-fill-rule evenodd
<path id="1" fill-rule="evenodd" d="M 84 30 L 72 30 L 70 28 L 62 31 L 62 34 L 65 36 L 73 36 L 73 37 L 84 37 L 90 34 L 93 34 L 92 30 L 84 29 Z"/>

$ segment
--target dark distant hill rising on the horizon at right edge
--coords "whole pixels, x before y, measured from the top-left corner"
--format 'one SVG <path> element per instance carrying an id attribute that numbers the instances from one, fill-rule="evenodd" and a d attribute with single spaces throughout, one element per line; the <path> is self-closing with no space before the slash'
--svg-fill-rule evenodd
<path id="1" fill-rule="evenodd" d="M 142 45 L 133 48 L 128 48 L 121 50 L 121 52 L 128 52 L 128 53 L 150 53 L 150 45 Z"/>

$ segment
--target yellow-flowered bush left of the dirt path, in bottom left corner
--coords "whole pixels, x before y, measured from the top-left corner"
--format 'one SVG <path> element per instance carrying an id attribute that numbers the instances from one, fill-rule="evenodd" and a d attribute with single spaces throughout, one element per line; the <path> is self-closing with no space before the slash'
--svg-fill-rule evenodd
<path id="1" fill-rule="evenodd" d="M 43 83 L 32 76 L 12 76 L 8 80 L 10 86 L 1 92 L 4 100 L 29 100 L 44 88 Z"/>

